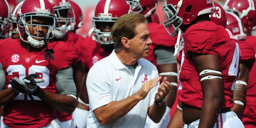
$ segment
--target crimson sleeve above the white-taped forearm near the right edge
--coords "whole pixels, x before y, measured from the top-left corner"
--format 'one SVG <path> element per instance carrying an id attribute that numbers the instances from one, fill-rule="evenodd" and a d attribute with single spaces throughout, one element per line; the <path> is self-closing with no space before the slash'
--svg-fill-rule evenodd
<path id="1" fill-rule="evenodd" d="M 238 40 L 238 44 L 241 51 L 241 62 L 247 63 L 249 70 L 251 70 L 255 62 L 255 51 L 252 46 L 245 41 Z"/>

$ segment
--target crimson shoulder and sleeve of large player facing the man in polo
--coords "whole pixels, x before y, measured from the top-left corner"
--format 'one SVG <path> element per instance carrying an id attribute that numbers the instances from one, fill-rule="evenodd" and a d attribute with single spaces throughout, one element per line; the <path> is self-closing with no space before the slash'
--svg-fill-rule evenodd
<path id="1" fill-rule="evenodd" d="M 218 49 L 226 40 L 232 40 L 224 27 L 216 26 L 213 22 L 204 23 L 200 22 L 191 26 L 184 34 L 185 53 L 191 51 L 199 54 L 218 55 L 214 49 Z"/>

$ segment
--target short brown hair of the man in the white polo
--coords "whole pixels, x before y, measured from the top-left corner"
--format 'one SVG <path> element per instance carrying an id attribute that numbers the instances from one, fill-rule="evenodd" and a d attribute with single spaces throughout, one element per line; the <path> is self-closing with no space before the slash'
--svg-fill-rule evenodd
<path id="1" fill-rule="evenodd" d="M 114 48 L 116 51 L 120 51 L 124 47 L 121 38 L 126 37 L 130 40 L 137 35 L 136 26 L 139 23 L 148 23 L 145 16 L 139 13 L 129 13 L 117 18 L 115 24 L 111 28 L 112 39 L 115 42 Z"/>

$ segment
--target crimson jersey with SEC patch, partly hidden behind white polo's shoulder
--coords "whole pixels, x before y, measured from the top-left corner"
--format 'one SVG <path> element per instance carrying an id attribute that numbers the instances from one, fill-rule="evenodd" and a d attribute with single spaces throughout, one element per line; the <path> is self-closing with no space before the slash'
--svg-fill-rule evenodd
<path id="1" fill-rule="evenodd" d="M 84 38 L 83 43 L 81 44 L 81 49 L 79 50 L 82 63 L 84 67 L 88 69 L 90 69 L 97 61 L 110 55 L 110 53 L 104 51 L 104 49 L 102 49 L 102 44 L 99 44 L 88 35 Z"/>

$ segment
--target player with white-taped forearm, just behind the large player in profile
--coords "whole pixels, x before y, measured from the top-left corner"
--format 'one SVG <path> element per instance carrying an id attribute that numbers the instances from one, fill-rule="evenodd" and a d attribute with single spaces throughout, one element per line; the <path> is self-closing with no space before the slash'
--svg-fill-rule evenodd
<path id="1" fill-rule="evenodd" d="M 239 66 L 241 73 L 234 86 L 233 100 L 235 104 L 231 110 L 233 110 L 238 117 L 242 117 L 241 115 L 243 115 L 243 103 L 245 102 L 247 92 L 249 72 L 251 71 L 252 66 L 254 65 L 255 62 L 255 51 L 250 44 L 245 42 L 247 32 L 240 18 L 230 11 L 227 11 L 226 13 L 226 27 L 238 39 L 238 44 L 241 51 L 241 62 Z"/>

